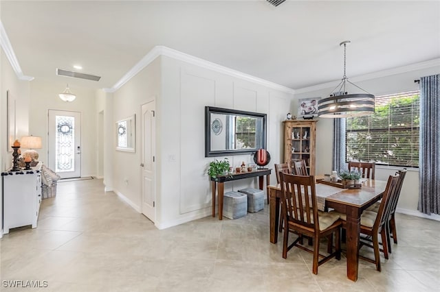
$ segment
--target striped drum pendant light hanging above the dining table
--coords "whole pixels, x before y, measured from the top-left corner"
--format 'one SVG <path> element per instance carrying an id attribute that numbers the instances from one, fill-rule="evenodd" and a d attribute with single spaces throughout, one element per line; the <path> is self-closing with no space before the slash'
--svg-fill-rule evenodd
<path id="1" fill-rule="evenodd" d="M 368 116 L 374 113 L 374 95 L 367 93 L 360 88 L 345 74 L 347 44 L 350 40 L 344 40 L 340 45 L 344 45 L 344 76 L 342 81 L 330 93 L 330 96 L 318 101 L 318 117 L 322 118 L 347 118 Z M 364 93 L 349 94 L 347 86 L 352 85 L 359 88 Z"/>

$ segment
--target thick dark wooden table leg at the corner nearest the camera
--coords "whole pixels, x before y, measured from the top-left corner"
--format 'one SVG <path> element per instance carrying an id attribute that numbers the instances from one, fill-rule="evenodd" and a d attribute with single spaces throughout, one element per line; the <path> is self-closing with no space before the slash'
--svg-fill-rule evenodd
<path id="1" fill-rule="evenodd" d="M 347 277 L 358 280 L 360 215 L 362 210 L 347 206 Z"/>

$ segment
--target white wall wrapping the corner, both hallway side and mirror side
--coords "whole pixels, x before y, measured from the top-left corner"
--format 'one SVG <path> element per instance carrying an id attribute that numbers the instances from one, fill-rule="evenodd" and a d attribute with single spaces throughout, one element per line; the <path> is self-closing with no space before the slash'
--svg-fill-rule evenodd
<path id="1" fill-rule="evenodd" d="M 159 56 L 113 94 L 113 123 L 136 114 L 136 152 L 113 150 L 113 183 L 118 195 L 133 208 L 141 206 L 140 106 L 156 100 L 156 218 L 158 228 L 211 214 L 211 184 L 204 157 L 204 109 L 217 106 L 267 114 L 267 149 L 281 162 L 282 121 L 292 94 Z M 114 149 L 114 148 L 113 148 Z M 223 157 L 219 157 L 223 158 Z M 229 156 L 231 165 L 250 163 L 252 156 Z M 128 181 L 128 184 L 124 183 Z M 274 174 L 271 178 L 275 181 Z M 256 179 L 225 184 L 225 191 L 257 186 Z"/>

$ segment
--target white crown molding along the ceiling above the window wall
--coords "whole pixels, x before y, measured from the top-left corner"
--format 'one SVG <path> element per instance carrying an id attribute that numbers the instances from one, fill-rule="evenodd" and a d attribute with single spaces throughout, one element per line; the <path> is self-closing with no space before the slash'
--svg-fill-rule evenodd
<path id="1" fill-rule="evenodd" d="M 381 78 L 381 77 L 396 75 L 396 74 L 400 74 L 400 73 L 406 73 L 406 72 L 410 72 L 410 71 L 428 69 L 428 68 L 432 68 L 432 67 L 436 67 L 436 66 L 438 66 L 439 70 L 440 70 L 440 58 L 352 77 L 352 78 L 350 78 L 350 81 L 351 82 L 361 82 L 361 81 L 365 81 L 365 80 L 372 80 L 375 78 Z M 308 87 L 304 87 L 304 88 L 298 88 L 298 89 L 295 89 L 295 93 L 308 93 L 308 92 L 315 91 L 315 90 L 330 88 L 332 86 L 338 85 L 338 82 L 340 82 L 340 80 L 336 80 L 333 82 L 326 82 L 326 83 L 317 84 L 314 86 L 308 86 Z"/>

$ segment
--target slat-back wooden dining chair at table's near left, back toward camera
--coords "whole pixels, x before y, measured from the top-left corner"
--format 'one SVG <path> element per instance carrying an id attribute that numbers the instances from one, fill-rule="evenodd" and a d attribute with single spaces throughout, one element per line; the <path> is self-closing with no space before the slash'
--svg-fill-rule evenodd
<path id="1" fill-rule="evenodd" d="M 281 179 L 281 210 L 285 220 L 283 239 L 283 258 L 287 258 L 287 252 L 296 246 L 301 250 L 314 254 L 314 274 L 318 273 L 318 266 L 327 262 L 330 258 L 336 257 L 340 260 L 340 228 L 342 221 L 339 215 L 333 212 L 318 211 L 316 200 L 315 176 L 293 175 L 280 173 Z M 295 241 L 289 242 L 289 232 L 304 234 L 313 238 L 313 250 L 299 244 L 302 236 Z M 336 234 L 336 250 L 333 252 L 333 233 Z M 327 256 L 319 253 L 320 239 L 327 237 Z M 322 258 L 321 260 L 319 258 Z"/>

